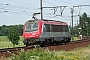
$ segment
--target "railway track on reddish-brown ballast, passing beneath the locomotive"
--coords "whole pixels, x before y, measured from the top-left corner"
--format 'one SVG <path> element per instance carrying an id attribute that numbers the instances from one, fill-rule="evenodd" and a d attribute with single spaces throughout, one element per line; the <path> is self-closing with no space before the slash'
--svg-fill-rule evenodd
<path id="1" fill-rule="evenodd" d="M 43 46 L 43 49 L 49 49 L 50 51 L 60 51 L 60 50 L 73 50 L 75 48 L 79 48 L 79 47 L 86 47 L 90 44 L 90 39 L 82 39 L 82 40 L 77 40 L 77 41 L 72 41 L 68 44 L 62 44 L 62 45 L 53 45 L 53 46 Z M 5 57 L 9 57 L 11 53 L 15 53 L 17 54 L 17 51 L 20 51 L 21 49 L 24 49 L 25 51 L 27 50 L 31 50 L 34 47 L 29 46 L 29 47 L 16 47 L 16 48 L 6 48 L 6 49 L 0 49 L 0 56 L 5 56 Z"/>

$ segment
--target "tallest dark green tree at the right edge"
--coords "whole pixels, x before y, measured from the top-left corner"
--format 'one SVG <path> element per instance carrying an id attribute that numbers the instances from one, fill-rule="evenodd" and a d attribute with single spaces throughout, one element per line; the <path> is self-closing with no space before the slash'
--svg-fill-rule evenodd
<path id="1" fill-rule="evenodd" d="M 84 13 L 80 17 L 80 27 L 82 28 L 81 33 L 83 36 L 88 36 L 89 35 L 89 24 L 90 24 L 90 18 L 87 17 L 87 14 Z"/>

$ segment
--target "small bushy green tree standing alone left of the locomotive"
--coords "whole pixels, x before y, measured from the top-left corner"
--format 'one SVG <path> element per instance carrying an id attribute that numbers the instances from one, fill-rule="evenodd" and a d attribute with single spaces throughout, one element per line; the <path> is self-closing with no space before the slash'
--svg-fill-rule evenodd
<path id="1" fill-rule="evenodd" d="M 8 34 L 8 39 L 13 43 L 13 46 L 18 45 L 19 43 L 19 33 L 15 28 L 11 28 Z"/>

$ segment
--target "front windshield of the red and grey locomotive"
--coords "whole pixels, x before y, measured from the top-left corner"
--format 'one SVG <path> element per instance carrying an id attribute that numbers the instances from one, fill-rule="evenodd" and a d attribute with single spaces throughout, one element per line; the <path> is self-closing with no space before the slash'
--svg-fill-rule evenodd
<path id="1" fill-rule="evenodd" d="M 38 30 L 38 22 L 26 23 L 26 32 L 33 32 Z"/>

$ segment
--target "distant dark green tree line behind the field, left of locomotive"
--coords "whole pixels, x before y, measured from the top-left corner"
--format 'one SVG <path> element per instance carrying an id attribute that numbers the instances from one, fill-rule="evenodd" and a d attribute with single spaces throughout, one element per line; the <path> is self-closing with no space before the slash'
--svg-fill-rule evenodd
<path id="1" fill-rule="evenodd" d="M 7 36 L 10 28 L 15 28 L 20 34 L 20 36 L 23 35 L 23 25 L 19 24 L 19 25 L 10 25 L 10 26 L 6 26 L 6 25 L 0 26 L 0 36 Z"/>

